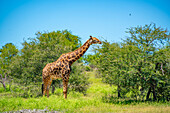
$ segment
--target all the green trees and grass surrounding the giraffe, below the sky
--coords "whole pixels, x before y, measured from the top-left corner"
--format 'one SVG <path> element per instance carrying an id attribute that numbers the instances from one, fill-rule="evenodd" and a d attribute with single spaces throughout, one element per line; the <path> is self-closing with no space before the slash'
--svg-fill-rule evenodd
<path id="1" fill-rule="evenodd" d="M 62 81 L 42 97 L 42 69 L 79 48 L 71 32 L 38 32 L 0 48 L 0 112 L 48 109 L 59 112 L 170 112 L 170 33 L 156 24 L 131 27 L 121 43 L 103 41 L 72 65 L 68 99 Z"/>

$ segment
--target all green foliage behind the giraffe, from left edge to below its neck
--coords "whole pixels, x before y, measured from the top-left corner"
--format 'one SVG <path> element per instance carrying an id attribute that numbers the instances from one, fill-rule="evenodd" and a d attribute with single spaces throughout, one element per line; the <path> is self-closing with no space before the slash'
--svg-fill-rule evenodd
<path id="1" fill-rule="evenodd" d="M 8 71 L 8 74 L 18 86 L 23 86 L 16 86 L 16 89 L 19 90 L 19 94 L 16 94 L 16 96 L 38 97 L 41 92 L 40 86 L 44 66 L 56 61 L 61 54 L 79 48 L 81 41 L 78 36 L 64 30 L 47 33 L 38 32 L 36 38 L 29 38 L 22 45 L 23 48 L 19 53 L 12 44 L 6 44 L 1 49 L 1 67 Z M 84 70 L 80 70 L 77 66 L 79 64 L 74 65 L 73 74 L 70 77 L 70 89 L 85 93 L 89 84 L 86 82 L 87 76 L 84 76 Z M 80 67 L 84 68 L 83 66 Z"/>

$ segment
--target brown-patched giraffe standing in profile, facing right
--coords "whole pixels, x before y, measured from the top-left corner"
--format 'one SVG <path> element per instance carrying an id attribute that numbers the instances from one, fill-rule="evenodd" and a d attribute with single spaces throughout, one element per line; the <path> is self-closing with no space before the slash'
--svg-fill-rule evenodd
<path id="1" fill-rule="evenodd" d="M 48 63 L 42 71 L 42 93 L 43 96 L 47 93 L 49 97 L 49 88 L 52 80 L 62 78 L 63 81 L 63 94 L 64 98 L 67 98 L 67 87 L 69 81 L 69 75 L 71 72 L 71 65 L 78 60 L 92 44 L 101 44 L 102 42 L 96 37 L 90 36 L 90 38 L 78 49 L 62 54 L 57 61 Z"/>

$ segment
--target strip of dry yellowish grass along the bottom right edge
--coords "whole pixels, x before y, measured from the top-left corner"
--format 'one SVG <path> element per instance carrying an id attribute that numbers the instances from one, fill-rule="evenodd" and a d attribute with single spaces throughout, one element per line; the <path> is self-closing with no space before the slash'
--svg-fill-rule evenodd
<path id="1" fill-rule="evenodd" d="M 114 113 L 169 113 L 169 106 L 152 106 L 152 105 L 104 105 L 104 106 L 90 106 L 84 107 L 76 112 L 81 113 L 105 113 L 105 112 L 114 112 Z"/>

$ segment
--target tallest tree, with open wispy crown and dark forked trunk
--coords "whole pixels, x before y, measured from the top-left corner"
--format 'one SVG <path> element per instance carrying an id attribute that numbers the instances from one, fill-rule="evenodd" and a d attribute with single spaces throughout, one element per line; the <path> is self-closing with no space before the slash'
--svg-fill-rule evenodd
<path id="1" fill-rule="evenodd" d="M 141 50 L 141 59 L 138 60 L 139 64 L 136 66 L 138 69 L 138 76 L 143 79 L 146 85 L 149 85 L 147 98 L 149 99 L 150 93 L 153 93 L 153 99 L 157 100 L 156 89 L 159 82 L 162 80 L 163 73 L 159 73 L 161 67 L 158 68 L 157 53 L 161 51 L 169 42 L 169 32 L 161 27 L 156 27 L 156 24 L 151 23 L 150 25 L 132 27 L 128 29 L 127 33 L 130 33 L 125 41 L 127 45 L 134 45 Z M 164 56 L 159 54 L 159 56 Z M 167 56 L 168 57 L 168 56 Z M 162 59 L 165 61 L 165 59 Z M 167 62 L 167 61 L 165 61 Z M 168 62 L 167 62 L 168 63 Z M 163 66 L 163 65 L 162 65 Z M 168 74 L 168 73 L 167 73 Z M 167 82 L 166 82 L 167 83 Z M 145 85 L 145 87 L 146 87 Z"/>

